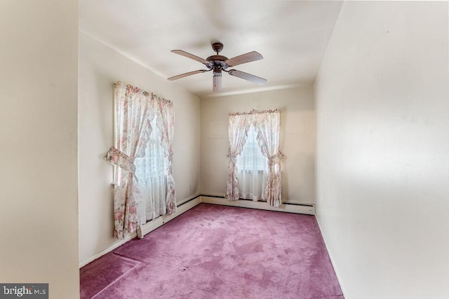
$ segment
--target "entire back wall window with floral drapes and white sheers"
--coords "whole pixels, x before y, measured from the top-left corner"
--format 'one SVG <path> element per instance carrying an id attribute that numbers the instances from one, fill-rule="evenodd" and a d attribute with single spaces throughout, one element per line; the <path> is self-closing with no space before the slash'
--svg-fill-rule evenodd
<path id="1" fill-rule="evenodd" d="M 228 130 L 226 198 L 262 199 L 279 207 L 282 204 L 281 160 L 285 158 L 279 148 L 280 111 L 253 109 L 248 113 L 229 113 Z"/>

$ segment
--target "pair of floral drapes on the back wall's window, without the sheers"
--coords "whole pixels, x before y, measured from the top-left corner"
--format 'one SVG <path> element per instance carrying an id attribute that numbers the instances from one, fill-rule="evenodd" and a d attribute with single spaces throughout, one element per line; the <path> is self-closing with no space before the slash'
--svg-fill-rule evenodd
<path id="1" fill-rule="evenodd" d="M 229 200 L 239 199 L 239 170 L 236 165 L 236 158 L 243 151 L 250 125 L 254 125 L 257 142 L 262 154 L 268 160 L 267 183 L 263 198 L 270 205 L 279 207 L 282 204 L 281 160 L 285 156 L 279 148 L 281 113 L 277 109 L 229 114 L 229 152 L 227 154 L 229 166 L 226 197 Z"/>

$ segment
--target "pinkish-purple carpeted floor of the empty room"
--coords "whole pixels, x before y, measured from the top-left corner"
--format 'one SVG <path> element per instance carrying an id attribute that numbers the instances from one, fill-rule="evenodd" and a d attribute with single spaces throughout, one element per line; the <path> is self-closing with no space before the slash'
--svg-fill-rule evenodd
<path id="1" fill-rule="evenodd" d="M 314 216 L 199 204 L 80 270 L 81 298 L 343 299 Z"/>

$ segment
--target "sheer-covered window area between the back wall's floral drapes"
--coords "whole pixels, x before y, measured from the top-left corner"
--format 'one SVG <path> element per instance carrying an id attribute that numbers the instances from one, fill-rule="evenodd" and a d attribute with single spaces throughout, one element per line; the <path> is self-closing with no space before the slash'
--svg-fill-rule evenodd
<path id="1" fill-rule="evenodd" d="M 264 200 L 267 186 L 268 160 L 262 155 L 255 127 L 250 126 L 243 151 L 237 157 L 239 195 L 249 200 Z"/>

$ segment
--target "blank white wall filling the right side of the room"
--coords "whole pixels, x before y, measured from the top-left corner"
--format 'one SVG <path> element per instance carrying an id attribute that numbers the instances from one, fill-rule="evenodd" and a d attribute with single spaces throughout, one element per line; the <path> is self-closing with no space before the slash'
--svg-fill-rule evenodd
<path id="1" fill-rule="evenodd" d="M 449 298 L 448 2 L 345 1 L 316 80 L 316 213 L 345 298 Z"/>

